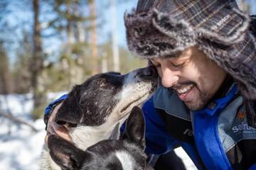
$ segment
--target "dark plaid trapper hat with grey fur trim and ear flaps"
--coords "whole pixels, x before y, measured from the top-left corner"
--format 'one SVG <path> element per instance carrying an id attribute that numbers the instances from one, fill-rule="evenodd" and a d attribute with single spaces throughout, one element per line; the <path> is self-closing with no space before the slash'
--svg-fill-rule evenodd
<path id="1" fill-rule="evenodd" d="M 256 99 L 256 41 L 235 0 L 139 0 L 124 16 L 129 50 L 146 59 L 199 49 Z"/>

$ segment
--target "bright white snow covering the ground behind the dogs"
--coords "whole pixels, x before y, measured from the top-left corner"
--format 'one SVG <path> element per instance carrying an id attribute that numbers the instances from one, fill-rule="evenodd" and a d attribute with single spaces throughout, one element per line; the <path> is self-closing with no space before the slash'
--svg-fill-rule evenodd
<path id="1" fill-rule="evenodd" d="M 49 94 L 49 101 L 60 94 Z M 46 131 L 43 119 L 31 120 L 33 103 L 31 94 L 0 96 L 1 111 L 10 111 L 13 115 L 31 123 L 38 132 L 33 132 L 26 125 L 15 125 L 5 118 L 0 118 L 0 170 L 36 170 L 43 147 Z M 10 133 L 10 134 L 9 134 Z M 181 148 L 175 150 L 183 159 L 188 169 L 196 169 L 186 152 Z"/>

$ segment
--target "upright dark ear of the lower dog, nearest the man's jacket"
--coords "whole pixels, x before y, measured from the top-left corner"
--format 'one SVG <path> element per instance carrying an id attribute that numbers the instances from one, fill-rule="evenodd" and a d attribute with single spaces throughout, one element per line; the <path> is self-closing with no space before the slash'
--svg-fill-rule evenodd
<path id="1" fill-rule="evenodd" d="M 145 147 L 145 120 L 142 110 L 135 106 L 132 108 L 124 131 L 124 137 L 144 149 Z"/>

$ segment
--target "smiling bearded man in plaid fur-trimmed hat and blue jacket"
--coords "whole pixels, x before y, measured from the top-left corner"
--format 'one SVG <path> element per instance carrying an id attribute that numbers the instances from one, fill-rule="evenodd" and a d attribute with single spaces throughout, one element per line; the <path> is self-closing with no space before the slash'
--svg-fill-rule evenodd
<path id="1" fill-rule="evenodd" d="M 146 152 L 256 168 L 256 44 L 235 0 L 141 0 L 124 20 L 129 50 L 161 78 L 143 107 Z"/>

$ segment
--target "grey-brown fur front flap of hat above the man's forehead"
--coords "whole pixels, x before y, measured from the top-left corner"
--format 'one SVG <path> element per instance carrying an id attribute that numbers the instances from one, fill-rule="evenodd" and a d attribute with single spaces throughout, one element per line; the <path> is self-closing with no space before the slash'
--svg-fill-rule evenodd
<path id="1" fill-rule="evenodd" d="M 193 28 L 157 10 L 125 14 L 129 50 L 143 58 L 169 57 L 196 45 Z"/>

